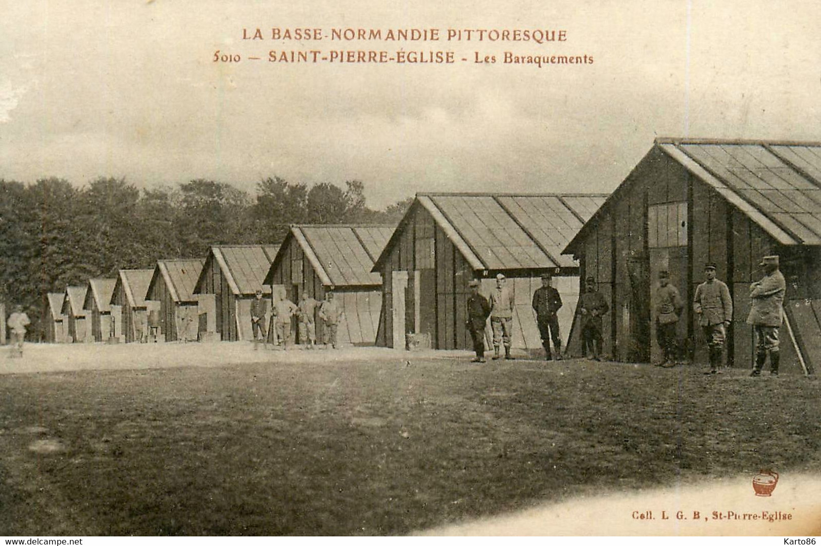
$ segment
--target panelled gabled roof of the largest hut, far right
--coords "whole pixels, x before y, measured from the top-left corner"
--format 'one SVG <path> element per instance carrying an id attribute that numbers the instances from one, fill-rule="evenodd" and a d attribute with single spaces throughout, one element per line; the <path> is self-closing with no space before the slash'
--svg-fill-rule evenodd
<path id="1" fill-rule="evenodd" d="M 821 245 L 821 143 L 658 138 L 654 146 L 776 241 Z M 586 231 L 585 226 L 564 251 L 573 252 Z"/>

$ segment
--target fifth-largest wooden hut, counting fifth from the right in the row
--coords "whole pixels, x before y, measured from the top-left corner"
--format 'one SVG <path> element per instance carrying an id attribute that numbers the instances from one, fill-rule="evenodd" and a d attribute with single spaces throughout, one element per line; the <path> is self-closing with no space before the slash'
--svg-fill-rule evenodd
<path id="1" fill-rule="evenodd" d="M 198 337 L 200 304 L 194 286 L 204 259 L 159 259 L 145 291 L 147 310 L 158 302 L 160 333 L 167 342 L 195 342 Z"/>

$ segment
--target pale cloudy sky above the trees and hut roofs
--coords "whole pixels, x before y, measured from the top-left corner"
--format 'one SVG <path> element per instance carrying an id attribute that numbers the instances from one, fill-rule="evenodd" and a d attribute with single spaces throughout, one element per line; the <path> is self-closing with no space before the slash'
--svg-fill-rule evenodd
<path id="1" fill-rule="evenodd" d="M 0 0 L 0 178 L 249 191 L 263 177 L 357 179 L 383 208 L 424 191 L 609 191 L 657 136 L 821 140 L 821 2 L 408 3 Z M 256 28 L 265 39 L 243 39 Z M 273 28 L 323 39 L 274 40 Z M 441 38 L 338 41 L 335 28 Z M 447 29 L 566 40 L 448 41 Z M 272 49 L 456 62 L 268 62 Z M 213 62 L 217 51 L 241 60 Z"/>

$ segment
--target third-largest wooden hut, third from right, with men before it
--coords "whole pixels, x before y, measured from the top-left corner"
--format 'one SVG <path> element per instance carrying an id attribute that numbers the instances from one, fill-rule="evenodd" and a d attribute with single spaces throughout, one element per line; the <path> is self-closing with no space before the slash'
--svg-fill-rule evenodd
<path id="1" fill-rule="evenodd" d="M 372 273 L 393 226 L 294 225 L 273 259 L 266 285 L 282 285 L 299 304 L 304 291 L 323 301 L 328 291 L 342 304 L 338 341 L 374 345 L 382 308 L 382 278 Z M 317 320 L 317 340 L 324 339 Z M 296 332 L 296 321 L 292 321 Z M 296 337 L 294 337 L 296 339 Z M 302 343 L 305 340 L 297 340 Z"/>

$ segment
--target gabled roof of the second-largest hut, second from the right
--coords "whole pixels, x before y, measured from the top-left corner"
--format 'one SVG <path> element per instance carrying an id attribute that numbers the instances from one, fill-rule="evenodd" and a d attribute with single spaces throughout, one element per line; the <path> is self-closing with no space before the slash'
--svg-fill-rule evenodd
<path id="1" fill-rule="evenodd" d="M 562 249 L 606 194 L 417 194 L 374 264 L 381 268 L 420 207 L 475 270 L 576 267 Z"/>

